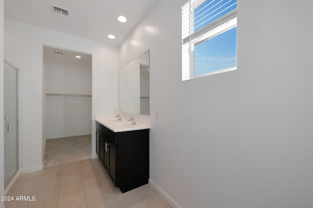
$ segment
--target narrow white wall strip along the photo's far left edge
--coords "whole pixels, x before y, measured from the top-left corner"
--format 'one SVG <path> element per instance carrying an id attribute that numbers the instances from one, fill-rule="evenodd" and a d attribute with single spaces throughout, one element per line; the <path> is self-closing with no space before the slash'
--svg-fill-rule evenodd
<path id="1" fill-rule="evenodd" d="M 3 11 L 4 3 L 0 0 L 0 60 L 3 60 Z M 0 64 L 0 83 L 3 83 L 3 64 Z M 3 85 L 0 85 L 0 118 L 3 118 Z M 3 119 L 0 119 L 0 126 L 3 126 Z M 0 128 L 0 175 L 4 175 L 3 159 L 3 128 Z M 0 177 L 0 196 L 4 196 L 4 177 Z M 0 201 L 0 208 L 4 208 L 4 203 Z"/>

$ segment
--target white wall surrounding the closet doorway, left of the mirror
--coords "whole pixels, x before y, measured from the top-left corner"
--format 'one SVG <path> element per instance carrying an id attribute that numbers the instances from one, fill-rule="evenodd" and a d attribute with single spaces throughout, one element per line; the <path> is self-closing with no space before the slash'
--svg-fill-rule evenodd
<path id="1" fill-rule="evenodd" d="M 43 44 L 92 54 L 92 132 L 95 114 L 111 113 L 117 108 L 117 47 L 5 19 L 4 57 L 21 70 L 24 171 L 42 168 Z"/>

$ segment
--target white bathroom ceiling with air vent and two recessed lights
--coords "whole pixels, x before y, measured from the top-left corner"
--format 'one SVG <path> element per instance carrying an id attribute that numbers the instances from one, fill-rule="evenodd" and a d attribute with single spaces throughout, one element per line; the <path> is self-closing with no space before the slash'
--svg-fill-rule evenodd
<path id="1" fill-rule="evenodd" d="M 4 18 L 99 42 L 120 45 L 157 0 L 4 0 Z M 54 15 L 50 4 L 70 17 Z M 118 16 L 125 16 L 121 23 Z M 115 39 L 109 39 L 108 35 Z"/>

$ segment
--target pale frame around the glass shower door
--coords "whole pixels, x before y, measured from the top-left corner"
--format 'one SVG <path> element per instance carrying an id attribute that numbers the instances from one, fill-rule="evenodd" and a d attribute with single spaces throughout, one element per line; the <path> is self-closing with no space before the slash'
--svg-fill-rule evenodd
<path id="1" fill-rule="evenodd" d="M 3 61 L 5 63 L 7 63 L 8 65 L 10 65 L 11 67 L 13 67 L 16 72 L 17 72 L 17 170 L 16 172 L 12 175 L 12 177 L 8 180 L 7 183 L 4 184 L 4 193 L 6 194 L 6 192 L 8 191 L 8 189 L 10 189 L 10 187 L 12 186 L 13 182 L 16 180 L 16 178 L 19 176 L 19 174 L 22 171 L 22 167 L 20 166 L 20 161 L 21 161 L 21 138 L 20 138 L 20 132 L 21 132 L 21 125 L 20 125 L 20 112 L 21 112 L 21 104 L 20 104 L 20 93 L 21 93 L 21 83 L 20 83 L 20 69 L 17 68 L 16 66 L 14 66 L 11 62 L 9 62 L 8 60 L 6 60 L 5 58 L 3 59 Z M 3 63 L 4 64 L 4 63 Z M 4 70 L 4 69 L 3 69 Z M 4 77 L 3 77 L 4 78 Z M 5 170 L 4 170 L 5 171 Z"/>

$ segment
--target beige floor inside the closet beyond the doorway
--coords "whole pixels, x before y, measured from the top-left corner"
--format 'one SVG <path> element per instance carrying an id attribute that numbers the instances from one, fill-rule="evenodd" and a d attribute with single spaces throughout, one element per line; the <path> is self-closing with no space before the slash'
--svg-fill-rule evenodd
<path id="1" fill-rule="evenodd" d="M 45 168 L 86 160 L 91 154 L 91 134 L 45 140 Z"/>

